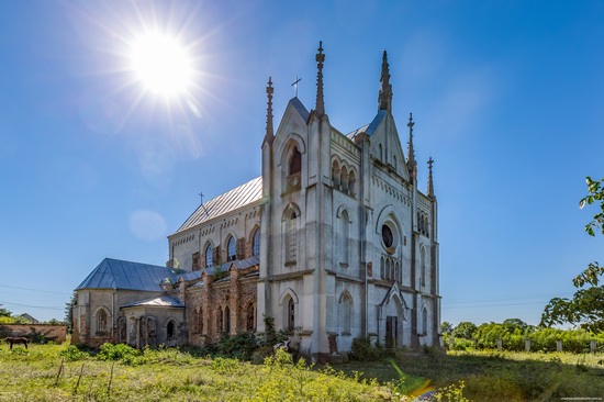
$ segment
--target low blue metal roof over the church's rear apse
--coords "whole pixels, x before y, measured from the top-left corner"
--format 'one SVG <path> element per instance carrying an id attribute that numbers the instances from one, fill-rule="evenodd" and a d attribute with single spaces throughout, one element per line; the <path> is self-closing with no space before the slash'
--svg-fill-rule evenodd
<path id="1" fill-rule="evenodd" d="M 176 282 L 181 272 L 180 269 L 105 258 L 76 290 L 128 289 L 160 292 L 160 283 L 165 278 Z"/>

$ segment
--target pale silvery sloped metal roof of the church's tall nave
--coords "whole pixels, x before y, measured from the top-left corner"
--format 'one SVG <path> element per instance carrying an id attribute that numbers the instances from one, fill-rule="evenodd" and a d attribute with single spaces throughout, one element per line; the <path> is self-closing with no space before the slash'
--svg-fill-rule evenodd
<path id="1" fill-rule="evenodd" d="M 200 205 L 175 234 L 258 201 L 261 197 L 262 177 L 260 176 Z"/>

